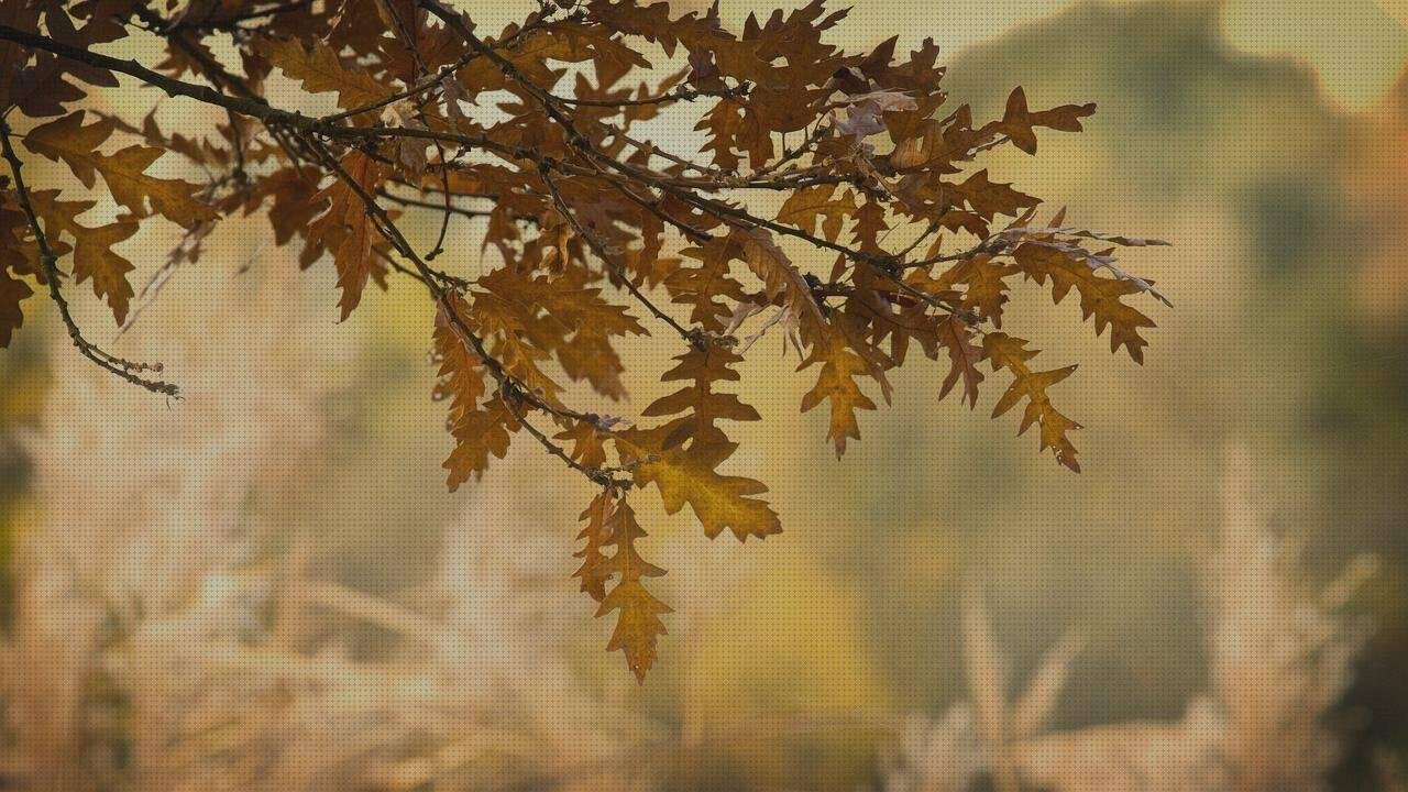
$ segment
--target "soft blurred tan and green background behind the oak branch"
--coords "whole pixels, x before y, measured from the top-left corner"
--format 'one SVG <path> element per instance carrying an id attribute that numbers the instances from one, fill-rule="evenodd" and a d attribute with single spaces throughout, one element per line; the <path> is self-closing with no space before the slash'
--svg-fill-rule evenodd
<path id="1" fill-rule="evenodd" d="M 760 344 L 731 465 L 786 531 L 641 509 L 677 610 L 642 686 L 569 579 L 576 476 L 520 444 L 445 492 L 421 295 L 337 324 L 329 268 L 231 221 L 111 345 L 172 404 L 42 317 L 0 355 L 0 788 L 1408 789 L 1405 24 L 859 0 L 834 41 L 936 38 L 979 118 L 1098 103 L 991 168 L 1170 240 L 1125 264 L 1177 307 L 1140 368 L 1032 290 L 1019 331 L 1081 364 L 1079 476 L 938 404 L 942 366 L 836 462 Z M 634 352 L 627 414 L 667 340 Z"/>

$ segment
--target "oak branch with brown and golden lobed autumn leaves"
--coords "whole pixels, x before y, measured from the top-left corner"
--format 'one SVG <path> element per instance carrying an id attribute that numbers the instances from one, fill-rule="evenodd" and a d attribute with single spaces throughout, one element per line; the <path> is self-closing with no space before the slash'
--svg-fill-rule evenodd
<path id="1" fill-rule="evenodd" d="M 1163 300 L 1111 255 L 1159 242 L 1039 218 L 1036 197 L 980 165 L 1005 145 L 1036 154 L 1038 130 L 1079 131 L 1094 106 L 1038 111 L 1018 87 L 979 123 L 945 107 L 936 45 L 842 52 L 825 38 L 845 16 L 815 1 L 731 30 L 717 10 L 556 0 L 491 32 L 441 0 L 4 3 L 0 342 L 41 292 L 80 354 L 175 396 L 159 365 L 90 342 L 68 303 L 90 283 L 128 323 L 137 266 L 118 245 L 156 223 L 184 230 L 169 272 L 221 218 L 266 213 L 275 244 L 337 271 L 344 318 L 370 283 L 422 289 L 449 486 L 514 440 L 594 482 L 576 576 L 615 616 L 608 648 L 643 678 L 670 607 L 649 590 L 665 571 L 642 557 L 634 492 L 689 506 L 711 538 L 781 530 L 760 481 L 722 472 L 729 424 L 760 420 L 738 385 L 759 338 L 814 382 L 801 409 L 826 410 L 838 457 L 890 399 L 890 372 L 928 358 L 946 366 L 938 397 L 976 406 L 995 380 L 994 416 L 1019 410 L 1019 433 L 1035 427 L 1079 471 L 1080 424 L 1053 395 L 1076 366 L 1049 368 L 1008 334 L 1008 296 L 1025 282 L 1074 293 L 1136 362 L 1153 321 L 1132 300 Z M 122 39 L 165 58 L 104 54 Z M 90 92 L 120 85 L 169 99 L 145 90 L 145 117 L 94 109 Z M 280 107 L 297 92 L 327 113 Z M 221 121 L 163 130 L 159 101 Z M 697 145 L 655 142 L 667 124 Z M 204 179 L 153 175 L 165 154 Z M 44 183 L 42 161 L 86 190 Z M 115 218 L 93 218 L 94 190 Z M 429 249 L 403 233 L 421 220 L 439 231 Z M 628 399 L 618 342 L 660 333 L 677 337 L 660 373 L 674 390 L 629 416 L 601 409 Z"/>

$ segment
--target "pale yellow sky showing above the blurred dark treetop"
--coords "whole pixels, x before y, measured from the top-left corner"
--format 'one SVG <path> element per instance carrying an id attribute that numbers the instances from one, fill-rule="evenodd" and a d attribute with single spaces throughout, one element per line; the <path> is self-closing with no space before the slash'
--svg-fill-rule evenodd
<path id="1" fill-rule="evenodd" d="M 952 55 L 1015 25 L 1090 1 L 1097 0 L 850 0 L 845 25 L 853 37 L 867 41 L 895 32 L 903 44 L 934 37 Z M 796 7 L 800 0 L 776 4 Z M 834 3 L 838 8 L 846 4 Z M 762 14 L 772 6 L 765 0 L 721 0 L 731 20 L 750 10 Z M 1326 93 L 1346 110 L 1376 104 L 1408 63 L 1408 0 L 1224 0 L 1224 6 L 1233 45 L 1309 62 Z"/>

